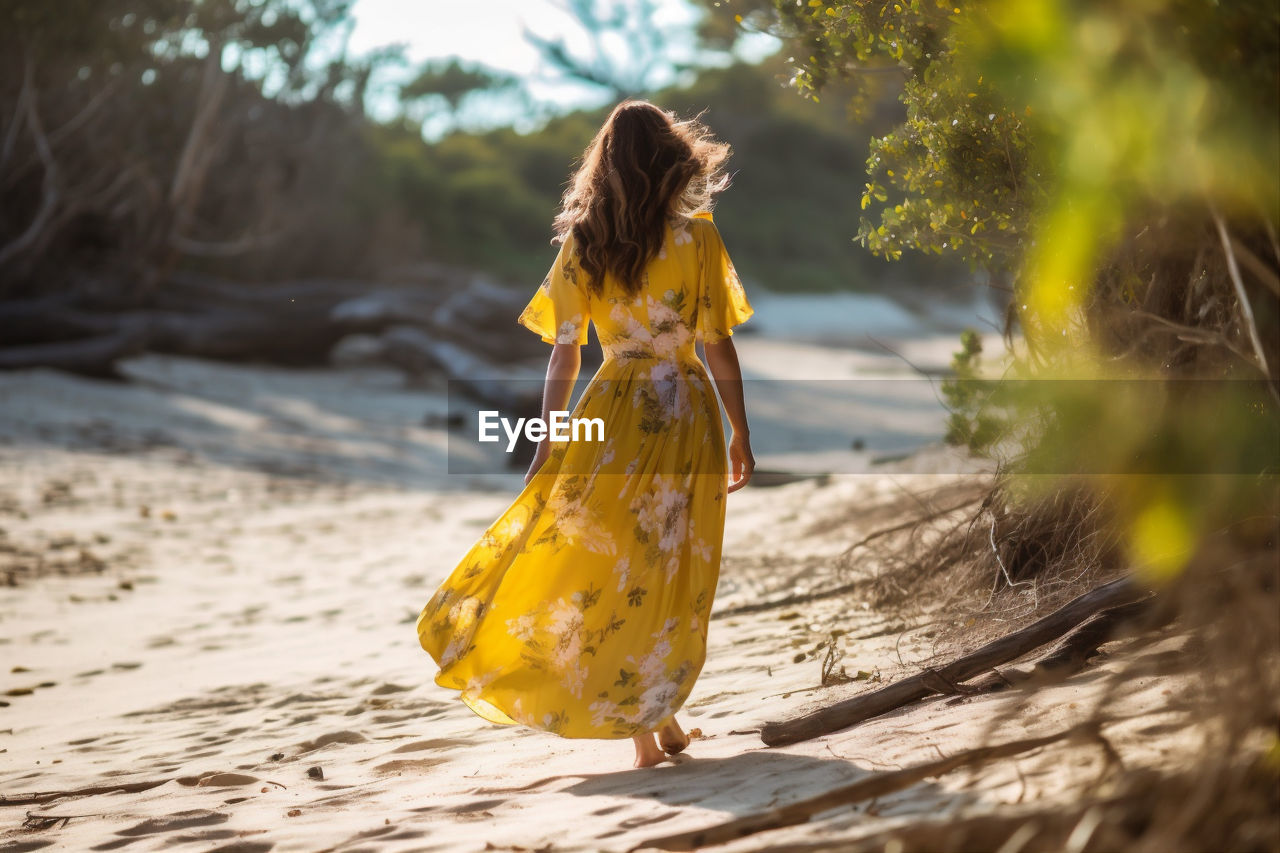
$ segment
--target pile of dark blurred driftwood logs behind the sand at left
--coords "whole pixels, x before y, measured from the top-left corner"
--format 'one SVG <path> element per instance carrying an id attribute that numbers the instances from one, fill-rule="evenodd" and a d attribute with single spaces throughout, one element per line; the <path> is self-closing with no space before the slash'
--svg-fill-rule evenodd
<path id="1" fill-rule="evenodd" d="M 0 369 L 47 366 L 109 377 L 115 375 L 116 360 L 141 351 L 323 365 L 347 336 L 403 328 L 416 329 L 428 342 L 408 347 L 429 351 L 422 369 L 448 371 L 444 362 L 481 369 L 452 374 L 460 378 L 493 374 L 483 369 L 545 353 L 536 336 L 516 327 L 527 295 L 463 270 L 435 275 L 416 283 L 268 284 L 173 273 L 151 289 L 125 282 L 86 283 L 54 296 L 0 302 Z M 388 351 L 406 353 L 394 337 L 388 343 Z"/>

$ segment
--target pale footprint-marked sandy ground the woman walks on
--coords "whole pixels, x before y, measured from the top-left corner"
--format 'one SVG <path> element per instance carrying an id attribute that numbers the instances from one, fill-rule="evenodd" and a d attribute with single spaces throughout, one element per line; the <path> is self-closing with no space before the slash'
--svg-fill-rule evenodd
<path id="1" fill-rule="evenodd" d="M 756 375 L 781 352 L 742 351 Z M 814 377 L 856 368 L 788 352 Z M 1032 698 L 936 699 L 764 748 L 763 721 L 867 689 L 815 689 L 833 628 L 846 670 L 886 680 L 936 649 L 927 630 L 904 635 L 849 598 L 723 613 L 847 579 L 832 566 L 851 540 L 906 492 L 965 474 L 932 450 L 749 488 L 732 497 L 721 616 L 684 713 L 701 736 L 632 771 L 628 742 L 489 725 L 433 684 L 415 617 L 518 483 L 445 474 L 447 434 L 422 425 L 444 409 L 438 391 L 376 370 L 159 357 L 129 370 L 129 384 L 0 375 L 0 795 L 109 789 L 0 803 L 6 850 L 627 850 L 991 736 L 1064 729 L 1115 665 Z M 938 423 L 919 418 L 922 434 Z M 1169 692 L 1128 685 L 1119 710 L 1133 717 L 1107 730 L 1126 762 L 1176 760 Z M 1066 800 L 1101 768 L 1094 747 L 1051 747 L 723 849 Z"/>

